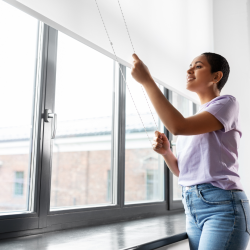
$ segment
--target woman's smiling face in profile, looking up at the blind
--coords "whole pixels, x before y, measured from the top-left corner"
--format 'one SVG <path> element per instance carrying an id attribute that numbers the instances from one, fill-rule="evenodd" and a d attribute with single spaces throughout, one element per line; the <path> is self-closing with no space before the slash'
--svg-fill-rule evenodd
<path id="1" fill-rule="evenodd" d="M 211 73 L 211 66 L 208 63 L 205 55 L 200 55 L 194 58 L 187 70 L 187 85 L 186 88 L 190 91 L 201 93 L 209 88 L 214 88 L 216 83 L 216 75 Z"/>

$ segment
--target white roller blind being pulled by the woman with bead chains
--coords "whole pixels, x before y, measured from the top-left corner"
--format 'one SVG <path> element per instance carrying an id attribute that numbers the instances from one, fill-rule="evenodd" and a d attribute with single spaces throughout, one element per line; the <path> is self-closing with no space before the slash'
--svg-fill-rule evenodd
<path id="1" fill-rule="evenodd" d="M 5 0 L 114 58 L 94 0 Z M 117 0 L 97 0 L 119 61 L 131 65 L 132 46 Z M 155 80 L 198 103 L 186 90 L 194 57 L 213 51 L 212 0 L 120 0 L 135 52 Z M 98 69 L 97 69 L 98 70 Z"/>

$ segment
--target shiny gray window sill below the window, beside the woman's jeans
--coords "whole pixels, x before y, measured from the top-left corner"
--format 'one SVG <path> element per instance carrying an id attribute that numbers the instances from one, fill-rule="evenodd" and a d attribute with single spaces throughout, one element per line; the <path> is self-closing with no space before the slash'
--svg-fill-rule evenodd
<path id="1" fill-rule="evenodd" d="M 185 214 L 123 221 L 107 225 L 72 228 L 63 231 L 0 241 L 1 249 L 155 249 L 187 239 Z"/>

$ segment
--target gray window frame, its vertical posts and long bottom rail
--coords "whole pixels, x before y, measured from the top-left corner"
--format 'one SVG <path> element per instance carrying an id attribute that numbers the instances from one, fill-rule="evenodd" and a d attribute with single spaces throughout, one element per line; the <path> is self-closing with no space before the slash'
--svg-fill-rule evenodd
<path id="1" fill-rule="evenodd" d="M 119 67 L 115 66 L 116 77 L 113 100 L 116 107 L 113 109 L 115 125 L 112 135 L 112 169 L 111 186 L 114 191 L 111 196 L 117 205 L 100 207 L 73 208 L 69 210 L 50 211 L 50 185 L 52 140 L 51 122 L 44 122 L 44 110 L 54 112 L 56 63 L 57 63 L 57 38 L 58 31 L 46 24 L 43 26 L 42 56 L 41 56 L 41 84 L 39 121 L 36 158 L 36 185 L 34 212 L 0 216 L 0 239 L 32 235 L 77 226 L 91 226 L 112 223 L 121 220 L 153 217 L 157 215 L 183 212 L 181 201 L 173 201 L 173 188 L 171 172 L 164 165 L 164 201 L 125 204 L 125 101 L 126 83 L 123 80 Z M 126 67 L 120 64 L 124 76 Z M 164 89 L 164 95 L 170 98 L 169 90 Z M 113 105 L 114 106 L 114 105 Z M 171 134 L 165 129 L 168 139 Z M 116 146 L 114 146 L 116 145 Z M 117 178 L 116 178 L 117 177 Z M 117 191 L 116 191 L 117 190 Z M 172 211 L 171 211 L 172 210 Z"/>

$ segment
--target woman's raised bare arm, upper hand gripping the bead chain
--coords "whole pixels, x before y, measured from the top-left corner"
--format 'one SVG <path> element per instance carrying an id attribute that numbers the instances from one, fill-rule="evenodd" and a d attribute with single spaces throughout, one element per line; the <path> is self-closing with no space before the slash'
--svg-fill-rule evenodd
<path id="1" fill-rule="evenodd" d="M 143 85 L 158 116 L 172 134 L 197 135 L 223 128 L 222 123 L 206 111 L 188 118 L 183 117 L 162 94 L 147 66 L 135 54 L 133 58 L 132 76 Z"/>

